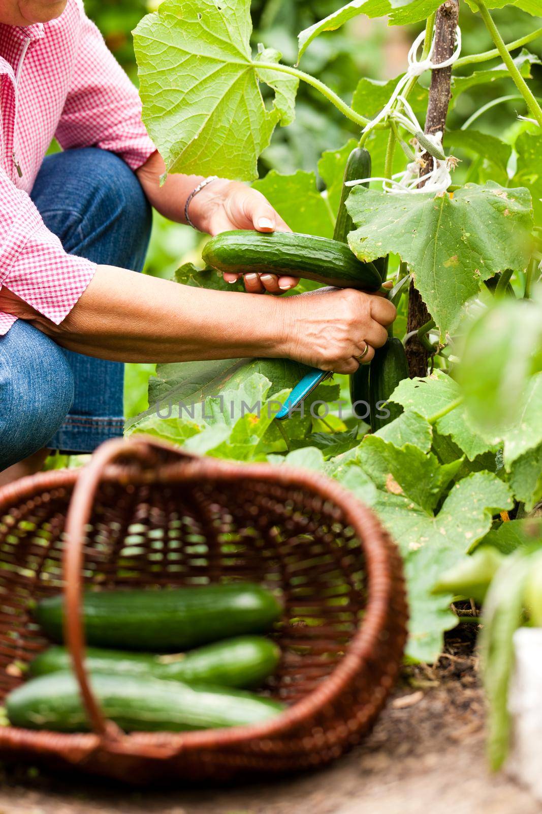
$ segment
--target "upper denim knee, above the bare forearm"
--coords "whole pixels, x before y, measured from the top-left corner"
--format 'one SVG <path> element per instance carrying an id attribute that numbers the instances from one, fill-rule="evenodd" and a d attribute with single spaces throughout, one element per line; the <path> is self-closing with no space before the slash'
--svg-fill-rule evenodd
<path id="1" fill-rule="evenodd" d="M 141 271 L 152 211 L 136 174 L 118 155 L 98 147 L 49 155 L 32 198 L 67 252 Z"/>

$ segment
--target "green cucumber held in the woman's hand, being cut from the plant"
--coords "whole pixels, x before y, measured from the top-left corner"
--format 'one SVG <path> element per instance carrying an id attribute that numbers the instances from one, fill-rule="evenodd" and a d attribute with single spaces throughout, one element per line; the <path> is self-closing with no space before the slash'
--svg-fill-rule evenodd
<path id="1" fill-rule="evenodd" d="M 361 291 L 377 291 L 381 284 L 375 265 L 362 263 L 345 243 L 312 234 L 222 232 L 206 243 L 202 257 L 207 265 L 233 274 L 293 274 Z"/>

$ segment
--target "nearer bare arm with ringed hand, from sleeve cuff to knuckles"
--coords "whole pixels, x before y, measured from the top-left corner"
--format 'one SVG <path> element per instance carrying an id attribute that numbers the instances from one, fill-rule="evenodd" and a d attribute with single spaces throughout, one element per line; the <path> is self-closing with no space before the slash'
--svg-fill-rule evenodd
<path id="1" fill-rule="evenodd" d="M 0 310 L 32 322 L 70 350 L 117 361 L 190 361 L 236 357 L 292 358 L 322 370 L 352 373 L 358 357 L 384 344 L 395 309 L 359 291 L 262 297 L 209 291 L 114 266 L 98 266 L 60 323 L 3 287 Z"/>

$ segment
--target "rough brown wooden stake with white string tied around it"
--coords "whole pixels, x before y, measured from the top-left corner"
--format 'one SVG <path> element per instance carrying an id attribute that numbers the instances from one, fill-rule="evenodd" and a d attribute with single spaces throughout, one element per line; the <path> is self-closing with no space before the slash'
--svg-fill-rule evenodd
<path id="1" fill-rule="evenodd" d="M 444 62 L 453 55 L 455 50 L 455 39 L 457 21 L 459 20 L 459 0 L 446 0 L 436 12 L 435 23 L 435 48 L 433 50 L 432 61 L 434 63 Z M 446 128 L 446 116 L 451 96 L 452 66 L 449 68 L 438 68 L 431 72 L 431 88 L 429 90 L 429 104 L 427 107 L 427 119 L 425 122 L 426 133 L 444 133 Z M 430 156 L 427 153 L 427 162 L 423 164 L 420 175 L 426 171 Z M 420 186 L 423 186 L 421 182 Z M 409 294 L 409 314 L 406 323 L 406 330 L 418 330 L 431 319 L 426 304 L 423 302 L 414 285 L 410 283 Z M 427 349 L 418 341 L 414 335 L 406 345 L 406 358 L 409 362 L 410 378 L 414 376 L 426 376 L 429 355 Z"/>

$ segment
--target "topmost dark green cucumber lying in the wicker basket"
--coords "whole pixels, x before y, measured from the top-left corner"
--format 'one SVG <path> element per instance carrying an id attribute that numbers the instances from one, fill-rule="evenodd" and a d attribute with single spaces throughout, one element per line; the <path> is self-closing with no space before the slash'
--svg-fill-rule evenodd
<path id="1" fill-rule="evenodd" d="M 85 593 L 83 618 L 89 645 L 155 653 L 186 650 L 245 633 L 269 630 L 279 602 L 259 585 L 231 583 L 198 588 Z M 63 642 L 63 597 L 37 603 L 34 617 L 46 635 Z"/>

